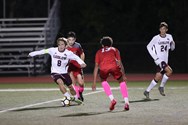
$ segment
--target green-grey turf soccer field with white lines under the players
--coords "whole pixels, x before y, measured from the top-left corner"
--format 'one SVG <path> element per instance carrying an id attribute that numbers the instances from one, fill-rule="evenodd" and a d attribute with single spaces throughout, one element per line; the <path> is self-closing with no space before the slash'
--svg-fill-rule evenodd
<path id="1" fill-rule="evenodd" d="M 150 101 L 143 96 L 148 84 L 128 83 L 130 110 L 123 111 L 118 83 L 110 83 L 118 101 L 112 112 L 100 84 L 91 91 L 86 83 L 84 105 L 70 107 L 61 106 L 62 95 L 53 83 L 0 84 L 0 125 L 188 125 L 188 81 L 168 81 L 165 97 L 156 86 Z"/>

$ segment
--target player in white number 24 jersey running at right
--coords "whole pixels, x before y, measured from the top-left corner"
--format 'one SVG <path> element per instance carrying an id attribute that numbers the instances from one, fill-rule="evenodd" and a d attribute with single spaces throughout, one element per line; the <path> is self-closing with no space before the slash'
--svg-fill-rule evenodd
<path id="1" fill-rule="evenodd" d="M 158 88 L 160 94 L 165 96 L 164 87 L 168 78 L 172 74 L 172 69 L 168 65 L 169 49 L 173 51 L 175 49 L 175 42 L 172 35 L 167 34 L 168 24 L 161 22 L 159 25 L 160 34 L 153 37 L 150 43 L 147 45 L 147 50 L 157 65 L 157 73 L 155 78 L 151 81 L 150 85 L 144 92 L 144 95 L 149 99 L 149 92 L 157 85 L 159 80 L 161 84 Z"/>

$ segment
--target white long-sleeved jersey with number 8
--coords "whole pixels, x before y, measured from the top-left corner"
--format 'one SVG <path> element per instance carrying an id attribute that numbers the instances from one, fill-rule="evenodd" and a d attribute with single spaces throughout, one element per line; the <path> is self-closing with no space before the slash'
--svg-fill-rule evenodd
<path id="1" fill-rule="evenodd" d="M 29 53 L 30 56 L 50 54 L 51 56 L 51 73 L 65 74 L 67 73 L 69 60 L 76 60 L 79 64 L 85 64 L 73 52 L 65 49 L 64 52 L 59 52 L 58 47 L 43 49 Z"/>

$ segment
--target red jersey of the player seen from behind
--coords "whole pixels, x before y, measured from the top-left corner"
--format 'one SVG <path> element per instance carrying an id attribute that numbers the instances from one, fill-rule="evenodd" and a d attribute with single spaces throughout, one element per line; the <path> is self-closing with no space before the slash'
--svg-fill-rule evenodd
<path id="1" fill-rule="evenodd" d="M 97 51 L 95 63 L 99 64 L 100 70 L 117 67 L 117 60 L 121 60 L 119 50 L 115 47 L 104 47 Z"/>

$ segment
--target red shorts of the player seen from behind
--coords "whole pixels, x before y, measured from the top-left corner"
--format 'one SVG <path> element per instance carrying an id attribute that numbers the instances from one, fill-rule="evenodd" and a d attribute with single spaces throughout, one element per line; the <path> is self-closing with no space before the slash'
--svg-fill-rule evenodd
<path id="1" fill-rule="evenodd" d="M 121 68 L 113 67 L 110 69 L 100 69 L 101 79 L 106 80 L 110 74 L 114 77 L 114 79 L 118 80 L 122 76 Z"/>

